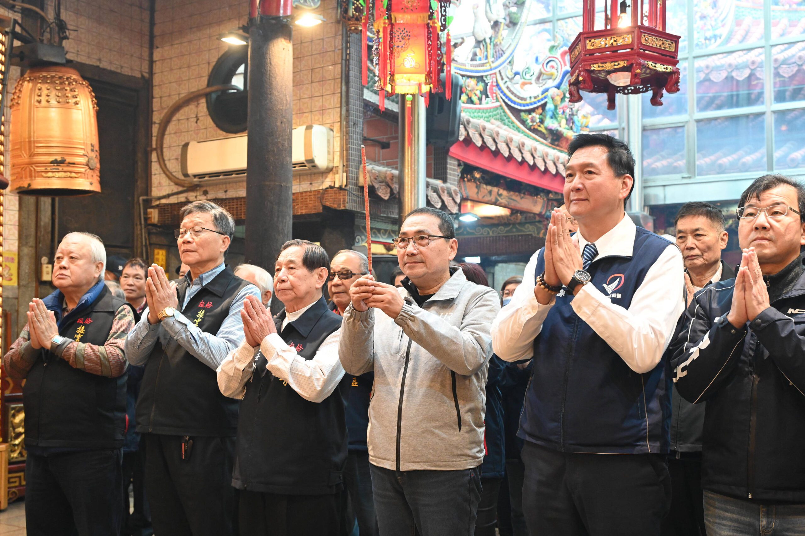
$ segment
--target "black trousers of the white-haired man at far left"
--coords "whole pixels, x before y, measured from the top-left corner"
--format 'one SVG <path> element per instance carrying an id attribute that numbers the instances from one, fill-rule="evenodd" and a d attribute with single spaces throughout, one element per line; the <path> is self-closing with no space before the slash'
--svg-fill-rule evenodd
<path id="1" fill-rule="evenodd" d="M 119 448 L 64 452 L 25 461 L 28 534 L 110 536 L 122 522 Z"/>

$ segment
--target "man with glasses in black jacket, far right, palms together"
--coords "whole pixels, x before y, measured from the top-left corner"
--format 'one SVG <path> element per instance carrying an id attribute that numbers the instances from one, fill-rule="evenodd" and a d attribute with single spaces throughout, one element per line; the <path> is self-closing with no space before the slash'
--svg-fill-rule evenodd
<path id="1" fill-rule="evenodd" d="M 805 534 L 803 214 L 800 182 L 755 180 L 738 203 L 737 276 L 696 294 L 671 346 L 679 394 L 707 402 L 708 536 Z"/>

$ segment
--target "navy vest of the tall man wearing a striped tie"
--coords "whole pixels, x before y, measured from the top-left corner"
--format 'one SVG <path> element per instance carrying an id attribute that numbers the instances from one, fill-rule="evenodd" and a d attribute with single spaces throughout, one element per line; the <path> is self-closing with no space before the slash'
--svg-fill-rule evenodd
<path id="1" fill-rule="evenodd" d="M 592 260 L 588 284 L 614 305 L 629 309 L 651 266 L 666 248 L 674 247 L 637 227 L 632 256 Z M 543 255 L 544 250 L 536 275 L 545 269 Z M 668 292 L 681 293 L 681 289 Z M 572 294 L 559 293 L 555 300 L 534 341 L 534 366 L 518 436 L 562 452 L 668 452 L 671 375 L 667 360 L 638 374 L 580 319 L 571 305 Z"/>

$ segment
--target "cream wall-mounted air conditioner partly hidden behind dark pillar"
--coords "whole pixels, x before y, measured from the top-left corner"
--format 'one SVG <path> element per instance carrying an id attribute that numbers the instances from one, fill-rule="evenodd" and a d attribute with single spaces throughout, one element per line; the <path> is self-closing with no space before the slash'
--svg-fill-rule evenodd
<path id="1" fill-rule="evenodd" d="M 304 125 L 293 130 L 294 174 L 332 170 L 332 129 Z M 246 135 L 188 141 L 182 145 L 182 174 L 197 179 L 246 178 Z"/>

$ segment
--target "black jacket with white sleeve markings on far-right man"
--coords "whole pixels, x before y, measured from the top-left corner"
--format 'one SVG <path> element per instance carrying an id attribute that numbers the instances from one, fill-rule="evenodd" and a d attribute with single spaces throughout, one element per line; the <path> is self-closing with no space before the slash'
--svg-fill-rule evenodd
<path id="1" fill-rule="evenodd" d="M 805 503 L 801 263 L 768 278 L 771 306 L 740 329 L 727 321 L 734 279 L 704 288 L 687 308 L 672 366 L 679 394 L 707 401 L 704 489 L 761 504 Z"/>

